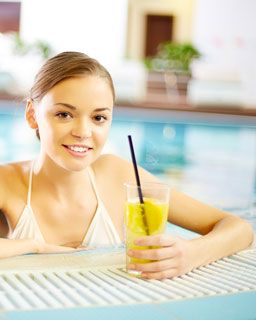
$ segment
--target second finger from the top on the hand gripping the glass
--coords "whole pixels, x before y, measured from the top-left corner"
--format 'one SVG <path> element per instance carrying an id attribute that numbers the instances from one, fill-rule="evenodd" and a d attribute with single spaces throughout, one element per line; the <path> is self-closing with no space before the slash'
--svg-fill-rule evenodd
<path id="1" fill-rule="evenodd" d="M 147 250 L 129 250 L 128 255 L 139 259 L 149 260 L 163 260 L 173 258 L 176 255 L 174 247 L 164 247 L 158 249 L 147 249 Z"/>

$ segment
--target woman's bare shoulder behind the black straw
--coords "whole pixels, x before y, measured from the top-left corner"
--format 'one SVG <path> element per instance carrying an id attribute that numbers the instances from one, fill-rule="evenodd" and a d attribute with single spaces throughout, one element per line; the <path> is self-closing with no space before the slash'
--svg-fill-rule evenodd
<path id="1" fill-rule="evenodd" d="M 93 169 L 100 175 L 124 182 L 135 182 L 133 164 L 113 154 L 101 155 L 93 164 Z M 150 172 L 139 167 L 141 181 L 158 181 Z"/>

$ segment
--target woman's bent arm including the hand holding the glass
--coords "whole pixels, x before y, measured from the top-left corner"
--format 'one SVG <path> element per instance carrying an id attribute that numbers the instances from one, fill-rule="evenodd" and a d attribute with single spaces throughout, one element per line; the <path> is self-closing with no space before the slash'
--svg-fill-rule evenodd
<path id="1" fill-rule="evenodd" d="M 141 171 L 141 176 L 146 181 L 151 175 Z M 192 240 L 173 235 L 138 239 L 137 245 L 161 247 L 130 252 L 132 257 L 155 260 L 131 266 L 142 271 L 145 278 L 179 276 L 242 250 L 253 240 L 252 228 L 246 221 L 175 190 L 171 192 L 168 220 L 201 236 Z"/>

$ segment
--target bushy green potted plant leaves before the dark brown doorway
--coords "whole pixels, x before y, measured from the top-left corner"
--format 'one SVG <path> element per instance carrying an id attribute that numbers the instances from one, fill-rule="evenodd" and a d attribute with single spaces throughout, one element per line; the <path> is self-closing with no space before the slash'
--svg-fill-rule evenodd
<path id="1" fill-rule="evenodd" d="M 146 58 L 149 70 L 190 73 L 190 65 L 201 53 L 190 43 L 163 42 L 159 45 L 156 56 Z"/>

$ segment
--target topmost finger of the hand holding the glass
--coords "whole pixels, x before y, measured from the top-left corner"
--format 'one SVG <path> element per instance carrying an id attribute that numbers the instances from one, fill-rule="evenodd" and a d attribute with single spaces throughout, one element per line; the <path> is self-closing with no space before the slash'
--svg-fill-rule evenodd
<path id="1" fill-rule="evenodd" d="M 159 246 L 169 247 L 177 242 L 177 237 L 167 234 L 158 234 L 155 236 L 146 236 L 138 238 L 134 243 L 138 246 Z"/>

